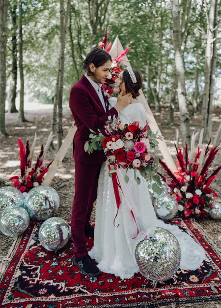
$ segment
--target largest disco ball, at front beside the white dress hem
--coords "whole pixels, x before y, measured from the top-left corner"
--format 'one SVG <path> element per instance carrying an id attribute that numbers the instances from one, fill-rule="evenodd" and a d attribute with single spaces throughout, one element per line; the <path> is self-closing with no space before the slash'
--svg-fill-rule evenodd
<path id="1" fill-rule="evenodd" d="M 157 227 L 149 238 L 146 234 L 138 234 L 134 253 L 140 273 L 150 280 L 167 280 L 180 266 L 179 242 L 171 232 L 161 227 Z"/>

